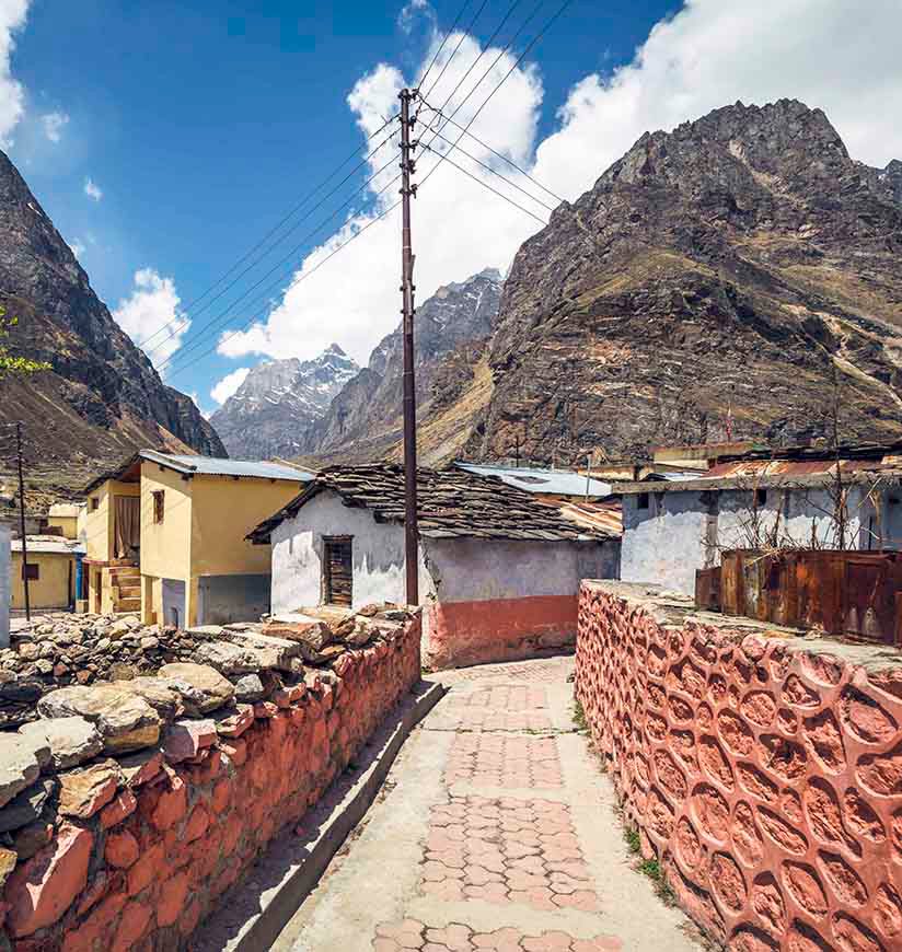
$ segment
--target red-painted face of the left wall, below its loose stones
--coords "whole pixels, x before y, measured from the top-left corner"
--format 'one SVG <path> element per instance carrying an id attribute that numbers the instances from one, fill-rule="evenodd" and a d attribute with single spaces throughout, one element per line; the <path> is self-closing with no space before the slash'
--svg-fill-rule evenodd
<path id="1" fill-rule="evenodd" d="M 127 782 L 90 791 L 84 815 L 63 820 L 7 880 L 0 949 L 184 948 L 222 893 L 317 802 L 419 680 L 419 641 L 416 616 L 394 640 L 338 658 L 333 683 L 244 706 L 232 736 L 200 719 L 190 740 L 180 735 L 190 750 L 141 752 L 138 770 L 123 757 Z"/>

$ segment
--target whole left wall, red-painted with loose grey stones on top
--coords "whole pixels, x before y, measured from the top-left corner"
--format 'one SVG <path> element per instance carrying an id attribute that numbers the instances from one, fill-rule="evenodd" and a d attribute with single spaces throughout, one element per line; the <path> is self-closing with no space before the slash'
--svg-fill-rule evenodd
<path id="1" fill-rule="evenodd" d="M 0 949 L 185 948 L 418 682 L 419 615 L 361 611 L 51 690 L 0 732 Z"/>

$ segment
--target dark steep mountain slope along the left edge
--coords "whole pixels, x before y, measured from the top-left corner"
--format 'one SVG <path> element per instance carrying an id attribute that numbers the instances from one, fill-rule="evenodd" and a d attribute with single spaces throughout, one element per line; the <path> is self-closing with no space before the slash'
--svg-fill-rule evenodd
<path id="1" fill-rule="evenodd" d="M 0 422 L 23 420 L 32 468 L 79 467 L 138 445 L 226 455 L 192 399 L 166 386 L 116 324 L 37 199 L 0 152 L 0 305 L 10 351 L 50 371 L 0 381 Z M 9 464 L 0 448 L 0 469 Z M 72 465 L 68 465 L 68 464 Z"/>

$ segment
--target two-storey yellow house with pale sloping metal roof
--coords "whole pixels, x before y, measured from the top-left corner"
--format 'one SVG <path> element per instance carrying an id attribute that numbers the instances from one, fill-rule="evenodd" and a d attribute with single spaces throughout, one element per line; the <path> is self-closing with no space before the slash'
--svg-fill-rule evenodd
<path id="1" fill-rule="evenodd" d="M 86 489 L 89 609 L 140 607 L 146 624 L 180 627 L 256 620 L 270 552 L 245 536 L 312 478 L 279 463 L 136 454 Z"/>

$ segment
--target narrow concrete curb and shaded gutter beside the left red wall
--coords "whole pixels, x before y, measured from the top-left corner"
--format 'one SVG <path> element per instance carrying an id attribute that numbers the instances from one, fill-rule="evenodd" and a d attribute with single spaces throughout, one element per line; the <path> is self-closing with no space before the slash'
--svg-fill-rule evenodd
<path id="1" fill-rule="evenodd" d="M 439 682 L 420 681 L 414 686 L 373 734 L 358 769 L 338 778 L 301 821 L 312 831 L 310 838 L 277 838 L 250 878 L 220 897 L 220 908 L 192 936 L 192 950 L 259 952 L 270 948 L 366 815 L 404 741 L 447 690 Z M 248 906 L 252 897 L 253 908 Z"/>

